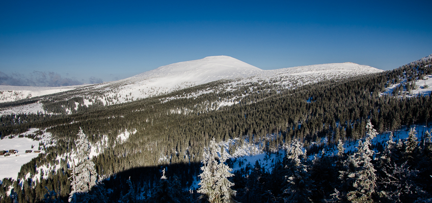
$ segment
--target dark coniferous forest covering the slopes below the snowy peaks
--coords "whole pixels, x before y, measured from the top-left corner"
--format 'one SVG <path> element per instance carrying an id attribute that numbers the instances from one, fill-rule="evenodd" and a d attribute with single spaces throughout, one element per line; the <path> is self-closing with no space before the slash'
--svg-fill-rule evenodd
<path id="1" fill-rule="evenodd" d="M 49 132 L 56 144 L 1 182 L 0 202 L 432 202 L 432 137 L 411 128 L 431 120 L 432 95 L 412 94 L 430 75 L 431 57 L 290 87 L 272 80 L 228 91 L 232 81 L 221 80 L 71 114 L 84 102 L 79 90 L 3 103 L 40 102 L 51 114 L 0 116 L 2 139 L 39 128 L 29 138 Z M 235 104 L 219 107 L 222 99 Z M 408 139 L 372 142 L 401 128 Z M 348 141 L 357 149 L 346 152 Z M 241 159 L 229 156 L 244 143 L 280 159 L 271 170 L 257 161 L 232 171 Z M 91 158 L 90 146 L 103 147 Z"/>

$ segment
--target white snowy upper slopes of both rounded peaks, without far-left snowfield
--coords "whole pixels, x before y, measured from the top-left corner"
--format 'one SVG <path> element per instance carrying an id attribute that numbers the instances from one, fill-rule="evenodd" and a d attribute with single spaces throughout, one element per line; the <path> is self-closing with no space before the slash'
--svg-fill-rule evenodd
<path id="1" fill-rule="evenodd" d="M 117 97 L 117 102 L 123 103 L 127 100 L 165 94 L 221 79 L 240 79 L 237 83 L 275 79 L 279 79 L 282 83 L 290 83 L 293 79 L 299 79 L 301 84 L 306 84 L 336 77 L 350 77 L 377 72 L 382 72 L 382 70 L 350 62 L 264 71 L 229 56 L 209 56 L 199 60 L 161 66 L 137 76 L 104 83 L 97 87 L 100 89 L 116 87 L 116 90 L 111 89 L 112 91 L 106 96 Z M 101 100 L 105 99 L 101 98 Z M 105 101 L 103 102 L 105 103 Z M 114 101 L 114 103 L 117 102 Z"/>

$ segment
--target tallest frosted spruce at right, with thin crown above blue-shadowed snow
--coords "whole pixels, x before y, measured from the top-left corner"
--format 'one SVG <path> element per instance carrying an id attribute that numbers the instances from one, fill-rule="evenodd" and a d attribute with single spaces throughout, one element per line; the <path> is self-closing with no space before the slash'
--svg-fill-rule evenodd
<path id="1" fill-rule="evenodd" d="M 352 202 L 372 202 L 371 195 L 375 192 L 376 175 L 371 163 L 373 151 L 370 141 L 377 132 L 372 128 L 370 120 L 366 125 L 366 138 L 359 141 L 357 151 L 343 163 L 344 170 L 340 171 L 339 179 L 343 181 L 346 191 L 343 195 Z"/>

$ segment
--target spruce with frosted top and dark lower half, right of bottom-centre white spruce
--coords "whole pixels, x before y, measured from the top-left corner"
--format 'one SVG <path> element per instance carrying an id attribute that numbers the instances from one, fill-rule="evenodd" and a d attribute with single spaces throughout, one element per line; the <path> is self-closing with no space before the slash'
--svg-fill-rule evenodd
<path id="1" fill-rule="evenodd" d="M 313 181 L 310 178 L 309 163 L 306 153 L 302 150 L 303 144 L 292 141 L 286 151 L 285 183 L 281 194 L 285 202 L 311 202 Z"/>

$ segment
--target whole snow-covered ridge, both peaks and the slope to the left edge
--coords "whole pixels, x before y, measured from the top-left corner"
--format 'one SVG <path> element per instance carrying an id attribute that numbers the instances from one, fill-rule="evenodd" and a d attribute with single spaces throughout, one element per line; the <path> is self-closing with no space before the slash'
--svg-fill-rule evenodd
<path id="1" fill-rule="evenodd" d="M 0 100 L 3 102 L 33 99 L 32 104 L 27 105 L 4 104 L 4 108 L 0 105 L 0 115 L 37 112 L 70 114 L 90 106 L 127 103 L 219 80 L 231 81 L 223 87 L 227 91 L 237 89 L 239 84 L 269 81 L 280 89 L 286 89 L 379 72 L 382 70 L 350 62 L 264 71 L 229 56 L 209 56 L 161 66 L 137 76 L 96 85 L 62 88 L 0 86 L 0 90 L 4 90 L 0 91 Z M 69 104 L 68 100 L 73 102 Z M 227 102 L 229 101 L 222 101 L 225 105 Z"/>

